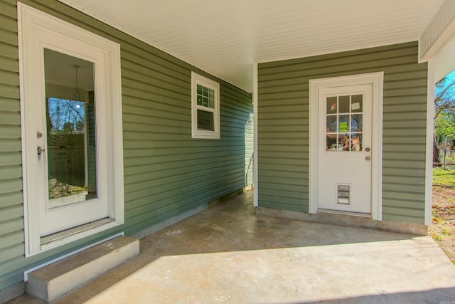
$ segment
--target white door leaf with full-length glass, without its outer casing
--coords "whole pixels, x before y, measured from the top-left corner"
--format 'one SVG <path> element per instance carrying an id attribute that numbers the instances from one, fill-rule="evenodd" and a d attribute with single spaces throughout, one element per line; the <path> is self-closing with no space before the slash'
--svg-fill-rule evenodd
<path id="1" fill-rule="evenodd" d="M 25 100 L 28 196 L 40 237 L 109 216 L 102 50 L 36 28 Z M 32 214 L 36 216 L 37 214 Z"/>

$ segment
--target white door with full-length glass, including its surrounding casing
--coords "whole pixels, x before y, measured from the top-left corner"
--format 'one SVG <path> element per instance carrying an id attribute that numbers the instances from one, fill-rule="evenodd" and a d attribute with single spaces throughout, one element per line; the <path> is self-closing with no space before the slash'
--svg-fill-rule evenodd
<path id="1" fill-rule="evenodd" d="M 119 50 L 19 7 L 26 243 L 33 254 L 123 221 L 119 70 L 112 66 L 119 68 Z"/>

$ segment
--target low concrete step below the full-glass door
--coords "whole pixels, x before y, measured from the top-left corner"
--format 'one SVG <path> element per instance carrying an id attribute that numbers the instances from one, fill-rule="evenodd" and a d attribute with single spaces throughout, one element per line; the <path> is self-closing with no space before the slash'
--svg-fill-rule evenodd
<path id="1" fill-rule="evenodd" d="M 119 236 L 28 274 L 27 293 L 51 302 L 139 255 L 139 240 Z"/>

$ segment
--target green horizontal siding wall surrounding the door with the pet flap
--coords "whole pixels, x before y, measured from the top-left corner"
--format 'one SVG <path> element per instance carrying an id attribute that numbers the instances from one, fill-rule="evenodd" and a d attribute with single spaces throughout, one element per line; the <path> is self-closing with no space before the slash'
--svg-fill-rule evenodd
<path id="1" fill-rule="evenodd" d="M 415 42 L 258 65 L 259 206 L 308 211 L 309 80 L 378 71 L 382 219 L 424 222 L 427 64 Z"/>

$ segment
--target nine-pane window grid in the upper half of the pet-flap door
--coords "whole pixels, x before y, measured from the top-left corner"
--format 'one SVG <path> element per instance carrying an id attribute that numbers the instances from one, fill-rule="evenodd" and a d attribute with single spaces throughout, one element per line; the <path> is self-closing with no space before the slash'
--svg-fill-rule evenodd
<path id="1" fill-rule="evenodd" d="M 362 151 L 363 95 L 326 98 L 326 150 Z"/>

